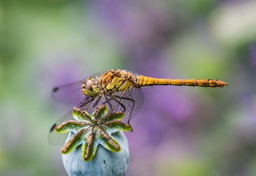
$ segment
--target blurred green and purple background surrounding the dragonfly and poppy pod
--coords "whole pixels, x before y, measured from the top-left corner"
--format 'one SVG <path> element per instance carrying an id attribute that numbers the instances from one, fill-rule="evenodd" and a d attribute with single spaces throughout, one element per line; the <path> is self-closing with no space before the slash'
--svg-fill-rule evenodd
<path id="1" fill-rule="evenodd" d="M 256 2 L 1 1 L 0 175 L 66 175 L 51 89 L 119 68 L 219 79 L 145 87 L 126 175 L 256 175 Z"/>

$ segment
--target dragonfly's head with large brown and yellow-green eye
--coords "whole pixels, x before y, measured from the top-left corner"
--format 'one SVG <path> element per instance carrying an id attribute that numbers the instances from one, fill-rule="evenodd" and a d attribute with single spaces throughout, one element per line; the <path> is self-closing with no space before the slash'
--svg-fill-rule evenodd
<path id="1" fill-rule="evenodd" d="M 91 98 L 96 98 L 99 95 L 99 88 L 97 87 L 97 82 L 92 78 L 88 78 L 82 84 L 82 92 L 84 95 Z"/>

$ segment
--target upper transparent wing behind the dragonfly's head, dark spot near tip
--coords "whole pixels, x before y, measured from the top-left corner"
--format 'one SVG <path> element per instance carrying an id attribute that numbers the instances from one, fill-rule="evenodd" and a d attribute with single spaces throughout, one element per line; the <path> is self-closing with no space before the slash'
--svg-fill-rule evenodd
<path id="1" fill-rule="evenodd" d="M 107 71 L 103 71 L 90 77 L 97 79 L 100 78 L 106 72 Z M 81 85 L 85 80 L 86 79 L 69 84 L 56 86 L 52 89 L 53 99 L 61 103 L 80 103 L 86 96 L 81 92 Z"/>

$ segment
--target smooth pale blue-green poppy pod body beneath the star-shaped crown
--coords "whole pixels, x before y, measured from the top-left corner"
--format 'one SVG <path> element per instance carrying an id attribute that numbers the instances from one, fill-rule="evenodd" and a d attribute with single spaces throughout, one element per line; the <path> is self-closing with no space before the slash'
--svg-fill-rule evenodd
<path id="1" fill-rule="evenodd" d="M 70 134 L 68 139 L 72 135 Z M 112 152 L 99 144 L 96 154 L 90 161 L 84 161 L 82 159 L 81 147 L 76 147 L 76 149 L 68 154 L 62 154 L 62 161 L 67 174 L 69 176 L 125 175 L 129 166 L 128 141 L 122 131 L 115 135 L 115 139 L 121 147 L 119 152 Z"/>

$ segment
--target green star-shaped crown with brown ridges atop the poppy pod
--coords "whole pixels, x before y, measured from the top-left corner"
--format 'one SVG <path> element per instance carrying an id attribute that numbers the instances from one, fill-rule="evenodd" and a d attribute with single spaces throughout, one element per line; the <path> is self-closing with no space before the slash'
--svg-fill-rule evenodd
<path id="1" fill-rule="evenodd" d="M 124 112 L 107 115 L 107 111 L 105 105 L 99 105 L 92 115 L 85 110 L 74 109 L 75 120 L 67 120 L 55 127 L 57 133 L 75 133 L 61 148 L 61 153 L 67 154 L 82 144 L 82 158 L 89 161 L 95 155 L 98 144 L 113 152 L 120 151 L 121 147 L 112 134 L 132 130 L 132 127 L 121 122 Z"/>

